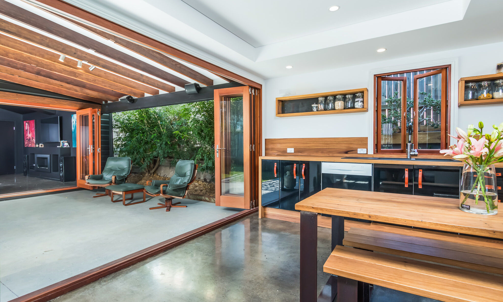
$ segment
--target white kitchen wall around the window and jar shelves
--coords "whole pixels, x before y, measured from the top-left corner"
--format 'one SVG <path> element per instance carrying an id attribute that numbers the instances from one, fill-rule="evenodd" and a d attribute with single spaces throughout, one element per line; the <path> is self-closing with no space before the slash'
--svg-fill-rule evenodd
<path id="1" fill-rule="evenodd" d="M 341 59 L 341 58 L 338 58 Z M 369 137 L 372 153 L 373 74 L 405 69 L 452 64 L 451 132 L 456 126 L 483 121 L 489 130 L 503 122 L 503 104 L 458 107 L 458 80 L 462 77 L 491 74 L 503 60 L 503 42 L 398 58 L 291 77 L 266 80 L 263 90 L 263 138 L 290 137 Z M 367 87 L 369 111 L 299 117 L 276 117 L 276 98 Z"/>

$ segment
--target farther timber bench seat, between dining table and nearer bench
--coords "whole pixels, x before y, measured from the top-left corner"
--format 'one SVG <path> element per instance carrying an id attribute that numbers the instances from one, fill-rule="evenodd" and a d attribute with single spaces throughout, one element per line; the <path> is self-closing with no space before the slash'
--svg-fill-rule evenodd
<path id="1" fill-rule="evenodd" d="M 410 229 L 410 231 L 422 231 Z M 438 239 L 351 228 L 343 244 L 359 249 L 393 254 L 440 264 L 453 265 L 503 275 L 503 250 Z M 416 232 L 417 233 L 417 232 Z M 451 235 L 451 234 L 443 234 Z M 455 235 L 456 236 L 456 235 Z M 466 242 L 485 244 L 478 238 L 465 237 Z M 456 239 L 462 240 L 456 236 Z M 500 246 L 503 248 L 503 241 Z"/>

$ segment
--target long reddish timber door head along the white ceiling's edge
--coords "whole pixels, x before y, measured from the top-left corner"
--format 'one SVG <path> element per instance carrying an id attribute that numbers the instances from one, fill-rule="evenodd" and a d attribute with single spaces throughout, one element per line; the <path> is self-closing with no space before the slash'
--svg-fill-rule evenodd
<path id="1" fill-rule="evenodd" d="M 181 59 L 185 62 L 199 66 L 199 67 L 204 68 L 206 70 L 209 70 L 215 74 L 221 75 L 222 77 L 231 79 L 232 81 L 236 81 L 236 82 L 248 85 L 248 86 L 253 86 L 255 88 L 262 89 L 261 84 L 254 82 L 254 81 L 251 81 L 251 80 L 248 80 L 239 74 L 236 74 L 234 72 L 226 70 L 226 69 L 219 67 L 215 64 L 209 63 L 203 59 L 200 59 L 198 57 L 190 55 L 186 52 L 183 52 L 183 51 L 178 50 L 172 46 L 169 46 L 169 45 L 166 45 L 166 44 L 161 43 L 159 41 L 156 41 L 152 38 L 149 38 L 147 36 L 139 34 L 139 33 L 132 31 L 128 28 L 125 28 L 124 26 L 121 26 L 121 25 L 115 24 L 109 20 L 106 20 L 102 17 L 99 17 L 99 16 L 96 16 L 92 13 L 86 12 L 85 10 L 82 10 L 80 8 L 77 8 L 75 6 L 67 4 L 61 0 L 37 0 L 37 2 L 39 2 L 43 5 L 52 7 L 59 12 L 74 16 L 80 20 L 90 22 L 90 23 L 92 23 L 102 29 L 112 31 L 118 36 L 126 37 L 128 39 L 136 41 L 139 44 L 146 45 L 146 46 L 151 47 L 153 49 L 156 49 L 162 53 L 166 53 L 167 55 L 170 55 L 172 57 Z"/>

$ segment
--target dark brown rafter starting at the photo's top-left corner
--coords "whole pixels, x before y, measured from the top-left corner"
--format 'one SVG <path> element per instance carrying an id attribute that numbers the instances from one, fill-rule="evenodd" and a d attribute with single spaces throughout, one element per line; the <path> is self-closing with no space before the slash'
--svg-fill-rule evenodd
<path id="1" fill-rule="evenodd" d="M 148 74 L 153 75 L 161 80 L 170 82 L 173 80 L 174 75 L 166 72 L 162 69 L 159 69 L 155 66 L 149 65 L 143 62 L 140 59 L 137 59 L 133 56 L 130 56 L 120 50 L 107 46 L 103 43 L 100 43 L 92 38 L 89 38 L 85 35 L 74 32 L 62 25 L 59 25 L 55 22 L 52 22 L 48 19 L 45 19 L 41 16 L 38 16 L 32 12 L 29 12 L 23 8 L 20 8 L 12 3 L 9 3 L 5 0 L 0 0 L 0 12 L 2 15 L 8 16 L 10 18 L 16 19 L 19 22 L 27 24 L 29 26 L 33 26 L 38 28 L 46 33 L 55 35 L 60 37 L 66 41 L 70 41 L 82 47 L 90 48 L 95 50 L 96 52 L 105 55 L 111 59 L 119 61 L 123 64 L 131 66 L 133 68 L 142 70 Z M 189 82 L 185 81 L 185 84 L 189 84 Z M 172 83 L 172 82 L 170 82 Z M 184 84 L 184 85 L 185 85 Z M 176 84 L 178 85 L 178 84 Z M 184 87 L 182 85 L 181 87 Z M 173 88 L 174 90 L 174 88 Z"/>

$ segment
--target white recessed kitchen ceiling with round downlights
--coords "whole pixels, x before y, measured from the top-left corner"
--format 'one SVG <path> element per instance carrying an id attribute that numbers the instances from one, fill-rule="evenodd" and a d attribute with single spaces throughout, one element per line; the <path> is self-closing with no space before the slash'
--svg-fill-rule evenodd
<path id="1" fill-rule="evenodd" d="M 258 82 L 503 41 L 501 0 L 65 1 Z"/>

